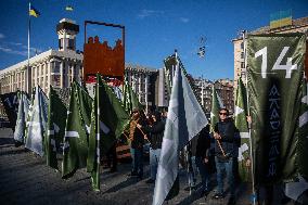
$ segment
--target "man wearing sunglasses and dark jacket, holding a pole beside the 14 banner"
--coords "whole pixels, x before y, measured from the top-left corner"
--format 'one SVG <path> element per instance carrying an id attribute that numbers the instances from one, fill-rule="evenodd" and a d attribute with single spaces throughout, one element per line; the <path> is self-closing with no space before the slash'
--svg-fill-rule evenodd
<path id="1" fill-rule="evenodd" d="M 229 118 L 229 111 L 220 108 L 219 123 L 215 125 L 215 163 L 217 170 L 217 193 L 214 198 L 222 198 L 223 194 L 223 169 L 227 172 L 227 179 L 230 190 L 229 204 L 235 204 L 234 176 L 233 176 L 233 158 L 236 155 L 235 136 L 238 129 L 232 120 Z"/>

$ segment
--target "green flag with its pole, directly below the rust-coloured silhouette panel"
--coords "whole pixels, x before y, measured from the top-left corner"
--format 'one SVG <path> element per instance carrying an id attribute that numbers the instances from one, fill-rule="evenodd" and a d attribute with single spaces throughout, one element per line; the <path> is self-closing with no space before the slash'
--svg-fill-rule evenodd
<path id="1" fill-rule="evenodd" d="M 129 115 L 121 102 L 115 95 L 113 89 L 98 75 L 87 162 L 87 170 L 92 172 L 94 190 L 100 190 L 99 153 L 106 153 L 128 124 Z"/>

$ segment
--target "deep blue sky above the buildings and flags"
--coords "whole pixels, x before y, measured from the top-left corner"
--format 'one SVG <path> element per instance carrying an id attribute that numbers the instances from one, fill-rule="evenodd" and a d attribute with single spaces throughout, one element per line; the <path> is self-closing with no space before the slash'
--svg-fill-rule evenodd
<path id="1" fill-rule="evenodd" d="M 27 59 L 28 0 L 0 0 L 0 69 Z M 210 80 L 234 77 L 232 39 L 241 30 L 270 23 L 270 14 L 292 10 L 293 18 L 308 16 L 308 0 L 33 0 L 40 12 L 31 17 L 30 50 L 57 49 L 55 26 L 67 17 L 80 26 L 77 50 L 84 50 L 85 21 L 125 26 L 126 62 L 162 68 L 178 50 L 188 73 Z M 66 5 L 74 8 L 65 11 Z M 89 36 L 113 44 L 117 28 L 90 25 Z M 202 40 L 206 39 L 206 40 Z M 205 56 L 197 55 L 205 44 Z"/>

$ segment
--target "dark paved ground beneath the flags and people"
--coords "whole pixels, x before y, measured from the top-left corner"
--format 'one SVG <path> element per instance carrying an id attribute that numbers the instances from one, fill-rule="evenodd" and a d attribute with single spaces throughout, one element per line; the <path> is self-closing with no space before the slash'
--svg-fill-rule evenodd
<path id="1" fill-rule="evenodd" d="M 149 164 L 145 163 L 145 177 L 149 176 Z M 101 172 L 101 191 L 91 189 L 90 175 L 86 169 L 78 170 L 72 178 L 63 180 L 61 174 L 46 165 L 44 158 L 26 151 L 24 146 L 15 148 L 13 133 L 9 129 L 0 129 L 0 202 L 4 204 L 104 204 L 104 205 L 150 205 L 154 184 L 128 178 L 130 164 L 119 164 L 118 171 Z M 211 184 L 215 187 L 215 176 Z M 198 177 L 200 182 L 200 177 Z M 223 200 L 201 197 L 198 191 L 192 195 L 184 191 L 187 178 L 180 171 L 180 193 L 165 204 L 228 204 L 228 195 Z M 249 190 L 241 187 L 238 190 L 236 204 L 251 204 Z"/>

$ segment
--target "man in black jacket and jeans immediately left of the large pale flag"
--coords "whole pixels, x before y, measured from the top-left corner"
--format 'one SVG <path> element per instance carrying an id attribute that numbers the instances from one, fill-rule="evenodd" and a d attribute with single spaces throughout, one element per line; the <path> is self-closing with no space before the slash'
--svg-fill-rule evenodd
<path id="1" fill-rule="evenodd" d="M 161 118 L 161 113 L 155 111 L 152 114 L 153 125 L 143 127 L 143 130 L 147 133 L 147 139 L 151 142 L 150 146 L 150 172 L 151 178 L 146 181 L 146 183 L 154 183 L 157 174 L 158 161 L 162 151 L 162 142 L 165 130 L 165 121 Z M 138 125 L 141 129 L 142 127 Z"/>

